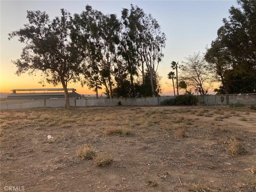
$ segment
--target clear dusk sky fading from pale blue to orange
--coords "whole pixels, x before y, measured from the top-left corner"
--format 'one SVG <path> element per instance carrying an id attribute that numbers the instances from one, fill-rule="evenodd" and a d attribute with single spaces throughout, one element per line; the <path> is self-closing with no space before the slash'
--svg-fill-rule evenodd
<path id="1" fill-rule="evenodd" d="M 16 67 L 11 60 L 20 58 L 22 47 L 25 44 L 18 42 L 18 38 L 8 40 L 8 33 L 18 30 L 28 23 L 26 10 L 45 11 L 50 18 L 60 16 L 60 9 L 64 8 L 70 12 L 80 14 L 85 10 L 86 5 L 104 14 L 116 14 L 121 16 L 122 8 L 130 9 L 130 4 L 142 8 L 145 13 L 151 13 L 161 26 L 161 31 L 166 34 L 166 48 L 163 50 L 164 58 L 159 64 L 158 73 L 162 76 L 164 92 L 172 90 L 166 86 L 167 74 L 172 70 L 170 63 L 176 61 L 181 63 L 184 57 L 194 52 L 206 52 L 206 46 L 210 46 L 212 40 L 217 37 L 217 30 L 222 26 L 222 19 L 228 18 L 229 8 L 236 4 L 236 1 L 0 1 L 0 48 L 1 48 L 1 70 L 0 70 L 0 92 L 10 92 L 12 89 L 42 88 L 40 73 L 36 76 L 15 74 Z M 46 84 L 44 88 L 54 88 Z M 61 85 L 56 88 L 62 88 Z M 68 84 L 68 88 L 76 88 L 80 94 L 94 94 L 85 86 L 82 88 L 79 83 Z M 102 90 L 103 91 L 103 90 Z"/>

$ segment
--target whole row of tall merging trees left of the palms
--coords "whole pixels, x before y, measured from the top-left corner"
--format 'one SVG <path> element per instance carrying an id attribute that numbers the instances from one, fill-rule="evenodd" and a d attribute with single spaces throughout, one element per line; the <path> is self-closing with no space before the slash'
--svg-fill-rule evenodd
<path id="1" fill-rule="evenodd" d="M 62 84 L 67 109 L 70 81 L 86 84 L 97 95 L 104 87 L 106 95 L 113 98 L 149 96 L 149 80 L 151 96 L 158 95 L 157 68 L 166 38 L 151 14 L 133 5 L 122 10 L 120 19 L 89 5 L 74 16 L 64 9 L 61 13 L 50 20 L 45 12 L 28 11 L 29 24 L 9 34 L 9 39 L 18 36 L 26 44 L 20 59 L 13 61 L 18 75 L 41 71 L 43 85 L 45 81 Z"/>

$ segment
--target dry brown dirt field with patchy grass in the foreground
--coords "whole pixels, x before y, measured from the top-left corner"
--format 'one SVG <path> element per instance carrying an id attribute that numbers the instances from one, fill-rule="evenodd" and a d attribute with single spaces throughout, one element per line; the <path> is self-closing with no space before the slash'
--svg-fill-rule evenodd
<path id="1" fill-rule="evenodd" d="M 255 110 L 24 109 L 1 110 L 0 121 L 1 192 L 256 191 Z M 120 127 L 131 134 L 106 134 Z M 112 163 L 78 158 L 83 144 Z"/>

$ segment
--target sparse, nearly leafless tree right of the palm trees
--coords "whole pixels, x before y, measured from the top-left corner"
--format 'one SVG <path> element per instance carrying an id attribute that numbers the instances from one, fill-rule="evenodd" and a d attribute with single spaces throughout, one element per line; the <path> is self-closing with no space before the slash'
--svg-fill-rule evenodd
<path id="1" fill-rule="evenodd" d="M 182 61 L 182 65 L 180 66 L 181 80 L 184 80 L 187 86 L 193 88 L 196 93 L 206 95 L 210 88 L 212 77 L 204 56 L 198 52 L 185 59 L 186 61 Z"/>

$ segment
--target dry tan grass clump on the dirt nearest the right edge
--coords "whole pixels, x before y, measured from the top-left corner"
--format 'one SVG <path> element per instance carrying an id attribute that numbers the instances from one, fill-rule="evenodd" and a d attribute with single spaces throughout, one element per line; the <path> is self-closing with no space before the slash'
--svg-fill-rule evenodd
<path id="1" fill-rule="evenodd" d="M 246 153 L 243 143 L 240 141 L 239 138 L 236 138 L 236 136 L 232 136 L 230 138 L 227 151 L 231 155 L 241 155 Z"/>

